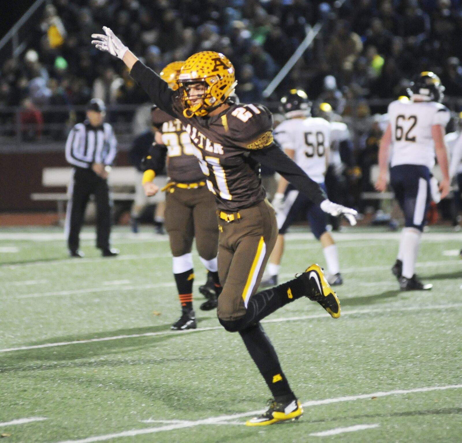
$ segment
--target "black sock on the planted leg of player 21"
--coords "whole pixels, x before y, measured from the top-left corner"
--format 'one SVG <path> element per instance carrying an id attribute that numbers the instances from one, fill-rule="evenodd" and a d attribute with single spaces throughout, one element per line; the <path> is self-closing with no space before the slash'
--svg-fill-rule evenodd
<path id="1" fill-rule="evenodd" d="M 276 351 L 261 324 L 250 326 L 239 334 L 274 398 L 284 402 L 295 400 L 295 395 L 282 372 Z"/>

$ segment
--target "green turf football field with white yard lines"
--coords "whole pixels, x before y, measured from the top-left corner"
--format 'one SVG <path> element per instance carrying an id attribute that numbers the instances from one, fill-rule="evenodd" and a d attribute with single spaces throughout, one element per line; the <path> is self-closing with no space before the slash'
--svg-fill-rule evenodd
<path id="1" fill-rule="evenodd" d="M 249 428 L 270 393 L 198 293 L 198 329 L 170 331 L 169 246 L 151 232 L 116 229 L 120 256 L 101 258 L 87 230 L 86 258 L 69 259 L 61 230 L 0 229 L 5 442 L 462 441 L 462 234 L 424 234 L 417 271 L 434 288 L 407 293 L 389 271 L 399 234 L 336 234 L 340 319 L 303 299 L 264 325 L 304 417 Z M 282 280 L 323 265 L 302 231 L 286 245 Z M 201 284 L 197 255 L 195 265 Z"/>

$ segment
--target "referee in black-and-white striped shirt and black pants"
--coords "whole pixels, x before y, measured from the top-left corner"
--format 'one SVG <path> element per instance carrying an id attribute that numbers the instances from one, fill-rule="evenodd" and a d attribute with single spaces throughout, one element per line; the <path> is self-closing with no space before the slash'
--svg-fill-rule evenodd
<path id="1" fill-rule="evenodd" d="M 66 160 L 73 166 L 69 185 L 66 227 L 67 247 L 71 257 L 83 257 L 79 250 L 79 234 L 88 200 L 95 196 L 96 247 L 103 257 L 116 256 L 119 251 L 109 246 L 111 229 L 108 174 L 116 157 L 117 141 L 109 123 L 103 123 L 106 106 L 103 100 L 92 98 L 87 105 L 84 123 L 77 123 L 66 142 Z"/>

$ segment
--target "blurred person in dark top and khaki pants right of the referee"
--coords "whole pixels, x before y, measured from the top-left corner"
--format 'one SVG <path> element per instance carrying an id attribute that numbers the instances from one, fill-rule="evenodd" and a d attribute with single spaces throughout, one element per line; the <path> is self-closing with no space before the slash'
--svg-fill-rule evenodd
<path id="1" fill-rule="evenodd" d="M 162 192 L 158 192 L 155 196 L 147 197 L 142 184 L 144 169 L 141 162 L 146 155 L 148 155 L 152 145 L 158 142 L 154 139 L 156 132 L 158 132 L 158 128 L 154 125 L 152 120 L 154 110 L 155 106 L 151 109 L 151 128 L 147 129 L 134 139 L 132 147 L 128 153 L 130 163 L 136 167 L 137 171 L 140 172 L 138 179 L 135 181 L 135 199 L 130 213 L 130 226 L 134 234 L 139 231 L 140 217 L 143 210 L 150 204 L 156 205 L 154 212 L 155 233 L 164 234 L 165 196 Z M 161 188 L 165 186 L 167 183 L 165 171 L 159 171 L 156 183 Z"/>

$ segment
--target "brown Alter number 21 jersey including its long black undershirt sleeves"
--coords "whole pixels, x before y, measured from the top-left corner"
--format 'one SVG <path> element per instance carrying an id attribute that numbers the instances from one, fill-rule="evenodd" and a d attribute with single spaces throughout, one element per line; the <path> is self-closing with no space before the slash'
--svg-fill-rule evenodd
<path id="1" fill-rule="evenodd" d="M 152 69 L 138 61 L 130 75 L 160 109 L 182 122 L 219 209 L 236 211 L 264 200 L 260 163 L 280 172 L 313 202 L 326 198 L 319 185 L 274 143 L 273 118 L 265 106 L 232 103 L 219 115 L 187 118 L 175 92 Z"/>

